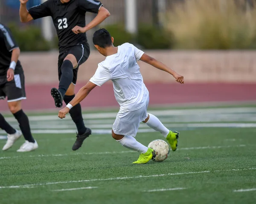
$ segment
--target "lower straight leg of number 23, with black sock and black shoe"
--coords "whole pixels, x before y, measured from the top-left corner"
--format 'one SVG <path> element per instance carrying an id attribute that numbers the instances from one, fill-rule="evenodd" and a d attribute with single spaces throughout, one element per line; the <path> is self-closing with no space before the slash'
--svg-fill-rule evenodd
<path id="1" fill-rule="evenodd" d="M 68 104 L 73 98 L 75 97 L 75 85 L 73 83 L 70 84 L 69 88 L 67 89 L 66 95 L 64 95 L 64 101 Z M 74 143 L 72 150 L 79 149 L 84 140 L 92 134 L 90 128 L 85 127 L 84 120 L 82 116 L 81 105 L 78 103 L 70 110 L 70 116 L 73 122 L 76 124 L 77 128 L 77 135 L 76 135 L 76 142 Z"/>

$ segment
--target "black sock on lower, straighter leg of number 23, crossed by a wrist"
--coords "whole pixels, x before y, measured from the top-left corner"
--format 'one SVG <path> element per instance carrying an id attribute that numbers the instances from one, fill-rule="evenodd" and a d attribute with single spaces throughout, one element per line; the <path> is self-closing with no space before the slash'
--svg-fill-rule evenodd
<path id="1" fill-rule="evenodd" d="M 72 95 L 72 96 L 65 95 L 63 100 L 65 101 L 66 104 L 68 104 L 74 97 L 75 95 Z M 84 134 L 84 132 L 86 131 L 86 127 L 84 126 L 84 120 L 82 117 L 82 109 L 81 109 L 80 103 L 78 103 L 76 106 L 70 109 L 69 113 L 72 120 L 76 124 L 78 135 Z"/>

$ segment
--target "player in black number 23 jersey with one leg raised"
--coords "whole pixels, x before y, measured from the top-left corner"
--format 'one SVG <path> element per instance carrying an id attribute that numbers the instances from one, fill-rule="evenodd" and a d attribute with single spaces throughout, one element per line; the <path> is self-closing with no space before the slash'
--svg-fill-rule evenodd
<path id="1" fill-rule="evenodd" d="M 28 0 L 20 0 L 20 20 L 23 23 L 41 17 L 51 16 L 59 39 L 58 89 L 52 88 L 51 95 L 55 106 L 61 107 L 64 100 L 68 104 L 75 97 L 75 85 L 79 65 L 90 55 L 85 32 L 102 23 L 110 13 L 97 0 L 47 0 L 46 2 L 26 9 Z M 85 13 L 96 13 L 97 16 L 85 25 Z M 72 149 L 79 149 L 91 134 L 84 126 L 81 105 L 70 112 L 78 129 L 77 139 Z"/>

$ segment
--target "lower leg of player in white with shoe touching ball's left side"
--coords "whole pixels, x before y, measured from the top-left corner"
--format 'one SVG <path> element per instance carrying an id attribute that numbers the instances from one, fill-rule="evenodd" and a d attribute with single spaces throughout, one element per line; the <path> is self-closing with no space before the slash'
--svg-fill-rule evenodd
<path id="1" fill-rule="evenodd" d="M 128 135 L 117 135 L 112 129 L 112 137 L 118 141 L 122 146 L 133 151 L 140 152 L 140 157 L 133 164 L 145 164 L 156 156 L 153 149 L 148 148 L 138 142 L 134 137 Z"/>

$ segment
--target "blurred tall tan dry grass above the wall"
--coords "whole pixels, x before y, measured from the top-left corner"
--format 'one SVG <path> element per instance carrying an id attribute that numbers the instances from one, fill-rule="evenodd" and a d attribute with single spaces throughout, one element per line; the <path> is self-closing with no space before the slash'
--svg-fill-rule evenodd
<path id="1" fill-rule="evenodd" d="M 256 47 L 256 8 L 244 1 L 186 0 L 169 11 L 166 28 L 177 49 L 250 49 Z"/>

